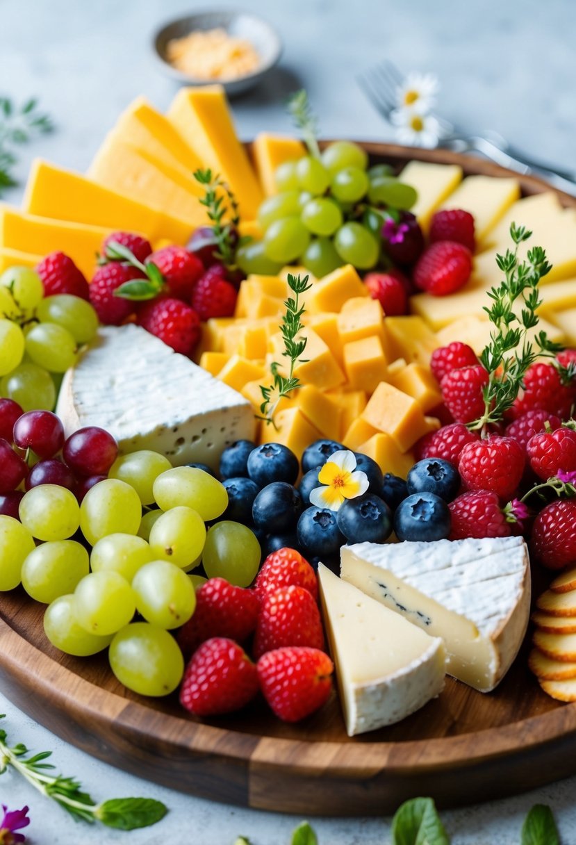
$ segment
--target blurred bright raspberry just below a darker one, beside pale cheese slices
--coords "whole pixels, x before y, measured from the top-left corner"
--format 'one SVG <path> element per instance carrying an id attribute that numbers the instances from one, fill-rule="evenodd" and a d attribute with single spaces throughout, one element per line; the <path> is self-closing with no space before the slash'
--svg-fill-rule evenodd
<path id="1" fill-rule="evenodd" d="M 445 297 L 466 284 L 472 272 L 470 249 L 454 241 L 432 243 L 414 268 L 413 279 L 421 291 Z"/>

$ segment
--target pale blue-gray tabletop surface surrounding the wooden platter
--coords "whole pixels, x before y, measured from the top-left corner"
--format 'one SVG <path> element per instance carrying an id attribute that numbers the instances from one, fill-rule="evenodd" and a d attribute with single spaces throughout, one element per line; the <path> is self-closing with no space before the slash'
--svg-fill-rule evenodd
<path id="1" fill-rule="evenodd" d="M 84 169 L 118 113 L 144 94 L 165 108 L 174 83 L 158 71 L 150 34 L 166 19 L 209 4 L 177 0 L 0 0 L 0 95 L 39 95 L 57 132 L 22 150 L 19 177 L 34 155 Z M 221 2 L 220 7 L 238 8 Z M 430 70 L 442 111 L 470 129 L 492 128 L 526 151 L 576 169 L 576 56 L 573 0 L 242 0 L 264 14 L 285 44 L 280 67 L 252 95 L 236 100 L 243 138 L 289 131 L 282 102 L 304 85 L 329 137 L 391 139 L 356 74 L 389 57 L 405 71 Z M 17 202 L 19 189 L 7 199 Z M 8 733 L 35 750 L 52 749 L 66 774 L 96 799 L 149 795 L 171 809 L 159 825 L 132 834 L 79 826 L 14 774 L 0 777 L 0 803 L 30 804 L 35 845 L 198 842 L 283 845 L 297 818 L 238 810 L 156 788 L 91 760 L 20 713 L 0 694 Z M 574 763 L 576 771 L 576 762 Z M 535 802 L 551 804 L 564 845 L 576 842 L 576 778 L 490 805 L 443 813 L 454 845 L 513 845 Z M 383 845 L 389 820 L 318 819 L 320 845 Z"/>

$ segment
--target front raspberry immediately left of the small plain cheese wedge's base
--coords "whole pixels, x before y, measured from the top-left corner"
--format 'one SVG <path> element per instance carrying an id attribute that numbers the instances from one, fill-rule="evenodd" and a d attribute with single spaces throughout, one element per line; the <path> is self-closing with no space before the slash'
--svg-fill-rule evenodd
<path id="1" fill-rule="evenodd" d="M 316 648 L 268 651 L 257 664 L 264 698 L 285 722 L 299 722 L 328 701 L 334 663 Z"/>

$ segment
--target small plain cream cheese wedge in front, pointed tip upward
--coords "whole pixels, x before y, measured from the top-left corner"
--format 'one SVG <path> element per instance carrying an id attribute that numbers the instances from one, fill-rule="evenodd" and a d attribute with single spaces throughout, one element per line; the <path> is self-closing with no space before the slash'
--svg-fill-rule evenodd
<path id="1" fill-rule="evenodd" d="M 323 564 L 318 579 L 349 736 L 399 722 L 442 691 L 446 652 L 441 639 Z"/>

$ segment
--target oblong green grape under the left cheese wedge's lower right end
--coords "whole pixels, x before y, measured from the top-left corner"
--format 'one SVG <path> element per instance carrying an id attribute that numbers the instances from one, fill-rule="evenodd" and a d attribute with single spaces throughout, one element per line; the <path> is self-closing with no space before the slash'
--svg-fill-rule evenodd
<path id="1" fill-rule="evenodd" d="M 185 504 L 207 522 L 218 519 L 228 507 L 223 484 L 196 466 L 175 466 L 154 482 L 154 498 L 162 510 Z"/>

